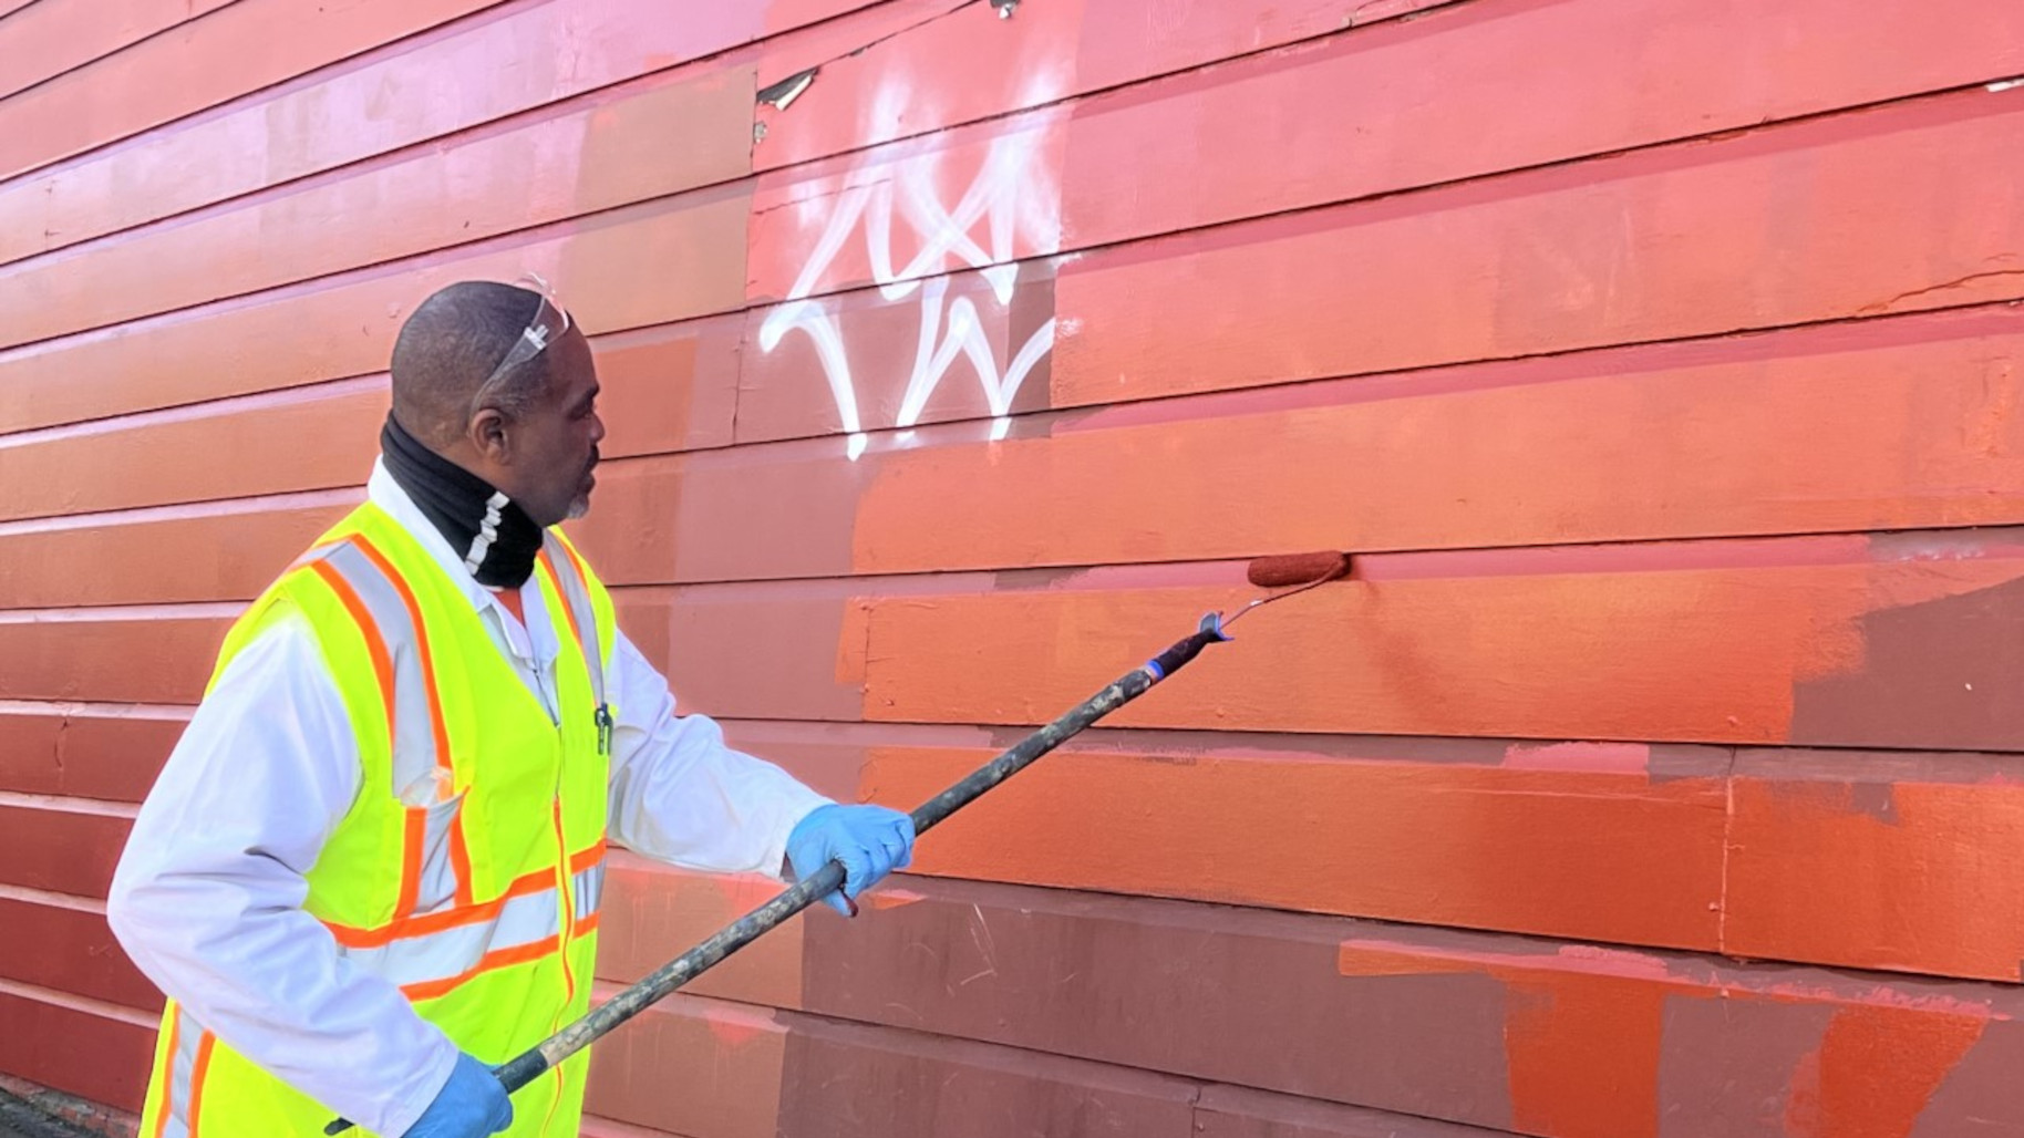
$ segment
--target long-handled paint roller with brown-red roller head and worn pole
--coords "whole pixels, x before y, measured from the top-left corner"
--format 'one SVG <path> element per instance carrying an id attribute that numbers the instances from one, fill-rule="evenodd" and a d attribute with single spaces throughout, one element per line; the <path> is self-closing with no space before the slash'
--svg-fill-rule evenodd
<path id="1" fill-rule="evenodd" d="M 1146 695 L 1156 684 L 1188 666 L 1202 654 L 1202 648 L 1231 640 L 1229 628 L 1251 609 L 1346 577 L 1350 569 L 1352 563 L 1346 553 L 1289 553 L 1251 561 L 1245 569 L 1245 579 L 1259 589 L 1271 589 L 1267 595 L 1249 601 L 1229 620 L 1225 620 L 1220 612 L 1204 616 L 1192 634 L 1176 640 L 1166 652 L 1160 652 L 1117 680 L 1111 680 L 1109 686 L 1075 705 L 1061 719 L 1055 719 L 1046 727 L 1026 735 L 992 761 L 969 771 L 955 786 L 917 806 L 913 810 L 915 834 L 925 834 L 935 828 L 949 814 L 955 814 L 963 806 L 982 798 L 994 786 L 1026 769 L 1034 759 L 1067 743 L 1097 719 L 1103 719 L 1105 715 Z M 822 871 L 795 883 L 737 921 L 731 921 L 696 948 L 690 948 L 623 992 L 611 996 L 611 1000 L 589 1010 L 577 1023 L 557 1031 L 512 1061 L 494 1067 L 492 1073 L 506 1087 L 506 1093 L 532 1083 L 563 1059 L 589 1047 L 617 1025 L 654 1006 L 658 1000 L 694 980 L 716 962 L 759 940 L 775 925 L 785 923 L 787 917 L 814 905 L 834 889 L 842 889 L 842 885 L 844 863 L 832 861 L 822 867 Z M 342 1134 L 350 1130 L 350 1122 L 340 1118 L 326 1126 L 324 1134 Z"/>

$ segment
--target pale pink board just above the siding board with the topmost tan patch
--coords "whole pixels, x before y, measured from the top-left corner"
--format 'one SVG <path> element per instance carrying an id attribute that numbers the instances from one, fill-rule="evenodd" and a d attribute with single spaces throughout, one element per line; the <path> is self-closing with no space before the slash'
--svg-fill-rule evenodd
<path id="1" fill-rule="evenodd" d="M 692 65 L 692 73 L 716 71 L 721 63 L 735 67 L 737 61 L 696 61 L 866 4 L 710 0 L 686 4 L 682 20 L 652 18 L 638 0 L 551 0 L 496 10 L 484 20 L 437 28 L 413 45 L 376 51 L 348 67 L 0 184 L 0 263 L 364 162 L 640 75 L 680 65 Z M 882 28 L 878 8 L 864 20 Z M 569 45 L 567 61 L 555 55 L 557 45 Z M 500 67 L 500 59 L 530 65 Z M 739 117 L 747 121 L 749 113 Z M 132 192 L 136 184 L 148 184 L 148 192 Z"/>

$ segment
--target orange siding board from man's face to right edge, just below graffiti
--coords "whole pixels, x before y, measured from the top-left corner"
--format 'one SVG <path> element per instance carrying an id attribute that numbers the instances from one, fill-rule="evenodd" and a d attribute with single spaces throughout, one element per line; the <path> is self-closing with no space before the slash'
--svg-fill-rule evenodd
<path id="1" fill-rule="evenodd" d="M 2002 306 L 741 445 L 613 464 L 583 533 L 686 583 L 2016 524 L 2020 352 Z"/>

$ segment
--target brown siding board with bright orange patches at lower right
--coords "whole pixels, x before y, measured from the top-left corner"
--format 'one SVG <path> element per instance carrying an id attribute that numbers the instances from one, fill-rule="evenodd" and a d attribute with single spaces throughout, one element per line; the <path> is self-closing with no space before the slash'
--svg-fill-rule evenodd
<path id="1" fill-rule="evenodd" d="M 654 875 L 619 875 L 609 909 Z M 642 923 L 634 944 L 654 950 L 603 974 L 658 966 L 708 931 L 690 919 Z M 1925 1124 L 1947 1132 L 1992 1106 L 2024 1045 L 2014 986 L 1340 917 L 899 879 L 856 921 L 799 921 L 804 1010 L 824 1017 L 1548 1138 L 1658 1138 L 1662 1118 L 1708 1132 L 1787 1104 L 1909 1126 L 1878 1083 L 1945 1083 Z M 1836 1075 L 1795 1081 L 1816 1053 Z"/>

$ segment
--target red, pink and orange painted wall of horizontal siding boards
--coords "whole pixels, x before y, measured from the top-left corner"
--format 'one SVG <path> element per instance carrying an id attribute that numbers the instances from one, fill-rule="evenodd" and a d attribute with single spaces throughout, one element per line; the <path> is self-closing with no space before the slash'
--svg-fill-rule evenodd
<path id="1" fill-rule="evenodd" d="M 2024 1132 L 2024 8 L 676 8 L 0 0 L 0 1073 L 138 1106 L 134 804 L 409 308 L 534 269 L 625 628 L 826 792 L 1366 555 L 587 1132 Z M 621 861 L 603 978 L 765 895 Z"/>

